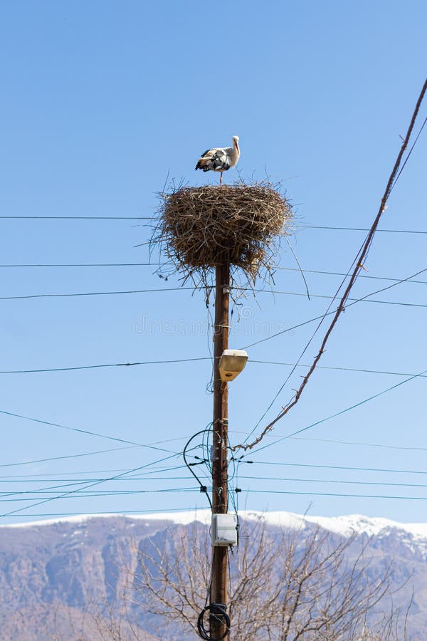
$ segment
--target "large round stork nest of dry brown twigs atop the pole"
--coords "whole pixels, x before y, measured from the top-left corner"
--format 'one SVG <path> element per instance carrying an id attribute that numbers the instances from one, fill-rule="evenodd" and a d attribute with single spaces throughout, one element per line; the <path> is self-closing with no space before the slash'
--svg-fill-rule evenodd
<path id="1" fill-rule="evenodd" d="M 209 286 L 214 268 L 225 261 L 248 283 L 263 269 L 273 271 L 292 210 L 269 182 L 181 187 L 161 197 L 152 243 L 160 244 L 184 280 Z"/>

